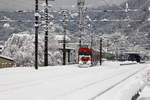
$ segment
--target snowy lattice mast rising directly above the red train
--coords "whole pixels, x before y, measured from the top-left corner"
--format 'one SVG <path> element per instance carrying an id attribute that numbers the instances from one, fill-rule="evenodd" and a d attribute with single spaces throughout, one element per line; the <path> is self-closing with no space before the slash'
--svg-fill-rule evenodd
<path id="1" fill-rule="evenodd" d="M 82 36 L 82 31 L 83 31 L 83 12 L 84 12 L 84 4 L 85 4 L 85 0 L 78 0 L 77 1 L 77 6 L 78 6 L 78 10 L 79 10 L 79 47 L 81 47 L 81 36 Z"/>

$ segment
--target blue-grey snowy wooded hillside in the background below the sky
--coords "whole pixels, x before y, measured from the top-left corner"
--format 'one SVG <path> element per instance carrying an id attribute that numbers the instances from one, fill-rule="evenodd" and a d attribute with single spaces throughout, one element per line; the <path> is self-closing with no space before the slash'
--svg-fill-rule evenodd
<path id="1" fill-rule="evenodd" d="M 85 16 L 89 16 L 90 21 L 87 17 L 85 19 L 85 34 L 82 34 L 83 40 L 87 40 L 90 35 L 100 34 L 114 34 L 116 32 L 121 33 L 128 37 L 130 44 L 139 45 L 146 49 L 150 49 L 149 38 L 150 38 L 150 22 L 148 18 L 150 11 L 148 7 L 150 5 L 149 0 L 129 0 L 129 9 L 137 9 L 137 11 L 129 11 L 125 13 L 125 3 L 120 6 L 113 5 L 111 7 L 101 6 L 98 8 L 89 8 L 85 13 Z M 102 11 L 102 12 L 95 12 Z M 112 11 L 109 11 L 112 10 Z M 76 11 L 71 11 L 68 15 L 67 22 L 67 34 L 70 36 L 72 42 L 78 42 L 78 23 L 79 18 L 76 16 Z M 44 16 L 43 12 L 40 13 Z M 127 16 L 128 20 L 127 20 Z M 40 21 L 44 20 L 41 17 Z M 0 40 L 7 40 L 13 33 L 32 31 L 34 29 L 34 12 L 0 12 L 0 20 L 17 20 L 16 22 L 2 22 L 0 23 Z M 51 22 L 51 32 L 56 34 L 63 34 L 62 24 L 62 13 L 60 10 L 50 12 L 49 22 Z M 109 21 L 102 21 L 108 19 Z M 30 20 L 31 22 L 26 22 Z M 113 21 L 114 20 L 114 21 Z M 120 21 L 115 21 L 120 20 Z M 122 21 L 121 21 L 122 20 Z M 125 21 L 126 20 L 126 21 Z M 91 28 L 88 25 L 91 25 Z M 40 31 L 44 31 L 43 23 L 40 23 Z M 51 27 L 51 26 L 50 26 Z M 91 34 L 92 33 L 92 34 Z M 86 42 L 89 42 L 87 40 Z M 146 46 L 143 46 L 145 44 Z"/>

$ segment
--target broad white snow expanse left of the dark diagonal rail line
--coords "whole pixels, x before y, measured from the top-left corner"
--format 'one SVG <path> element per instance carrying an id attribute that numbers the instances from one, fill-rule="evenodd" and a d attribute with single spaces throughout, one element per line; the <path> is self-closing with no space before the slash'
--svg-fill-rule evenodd
<path id="1" fill-rule="evenodd" d="M 0 70 L 0 100 L 89 100 L 143 68 L 142 65 L 103 68 L 72 65 L 38 71 Z"/>

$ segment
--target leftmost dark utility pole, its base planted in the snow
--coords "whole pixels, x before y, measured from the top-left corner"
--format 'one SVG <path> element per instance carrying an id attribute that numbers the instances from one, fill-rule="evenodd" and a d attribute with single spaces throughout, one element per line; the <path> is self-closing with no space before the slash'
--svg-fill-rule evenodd
<path id="1" fill-rule="evenodd" d="M 38 28 L 39 28 L 38 0 L 35 0 L 35 69 L 38 69 Z"/>

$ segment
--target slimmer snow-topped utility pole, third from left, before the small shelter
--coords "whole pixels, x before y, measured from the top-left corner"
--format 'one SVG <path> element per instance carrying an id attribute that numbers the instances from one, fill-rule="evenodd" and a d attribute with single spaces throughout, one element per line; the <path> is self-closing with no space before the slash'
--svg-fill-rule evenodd
<path id="1" fill-rule="evenodd" d="M 63 28 L 64 28 L 64 38 L 63 38 L 63 65 L 66 65 L 66 19 L 67 19 L 67 11 L 63 11 Z"/>

